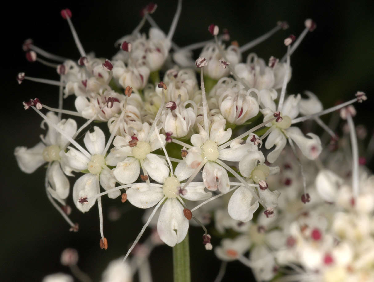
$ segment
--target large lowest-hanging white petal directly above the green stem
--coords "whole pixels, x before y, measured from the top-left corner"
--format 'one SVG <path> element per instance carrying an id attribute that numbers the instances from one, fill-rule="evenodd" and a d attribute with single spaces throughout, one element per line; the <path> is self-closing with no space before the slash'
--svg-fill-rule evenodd
<path id="1" fill-rule="evenodd" d="M 167 199 L 157 221 L 157 232 L 163 242 L 170 247 L 183 241 L 188 232 L 188 219 L 183 214 L 183 206 L 177 199 Z"/>

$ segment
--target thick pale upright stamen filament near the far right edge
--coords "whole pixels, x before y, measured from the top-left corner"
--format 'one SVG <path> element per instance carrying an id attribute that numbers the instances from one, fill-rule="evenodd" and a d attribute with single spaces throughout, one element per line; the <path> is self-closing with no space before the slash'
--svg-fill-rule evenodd
<path id="1" fill-rule="evenodd" d="M 347 123 L 350 131 L 350 139 L 352 146 L 352 189 L 353 198 L 357 198 L 359 194 L 359 158 L 358 158 L 358 144 L 355 130 L 355 124 L 353 123 L 352 116 L 347 114 Z"/>

